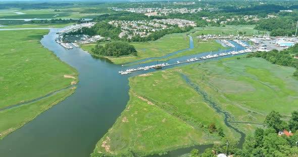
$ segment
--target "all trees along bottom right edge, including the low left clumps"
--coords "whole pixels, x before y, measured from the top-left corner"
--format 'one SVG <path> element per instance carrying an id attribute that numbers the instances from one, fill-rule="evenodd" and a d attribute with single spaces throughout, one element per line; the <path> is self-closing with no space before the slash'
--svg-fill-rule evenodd
<path id="1" fill-rule="evenodd" d="M 270 112 L 265 118 L 264 128 L 257 128 L 253 135 L 246 136 L 242 149 L 237 148 L 238 142 L 234 138 L 223 137 L 221 144 L 215 144 L 202 154 L 192 149 L 190 156 L 212 157 L 216 156 L 214 153 L 225 153 L 235 157 L 294 157 L 298 154 L 298 111 L 293 111 L 288 121 L 281 118 L 278 112 Z M 279 136 L 278 133 L 284 129 L 291 134 Z"/>

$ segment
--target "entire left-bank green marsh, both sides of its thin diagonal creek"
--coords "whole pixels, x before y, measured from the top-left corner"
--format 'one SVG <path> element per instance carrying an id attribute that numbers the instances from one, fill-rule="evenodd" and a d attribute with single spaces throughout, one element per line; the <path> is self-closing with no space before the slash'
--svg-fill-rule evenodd
<path id="1" fill-rule="evenodd" d="M 48 30 L 0 31 L 0 109 L 43 97 L 77 82 L 77 71 L 43 48 Z M 0 139 L 63 101 L 75 88 L 0 111 Z"/>

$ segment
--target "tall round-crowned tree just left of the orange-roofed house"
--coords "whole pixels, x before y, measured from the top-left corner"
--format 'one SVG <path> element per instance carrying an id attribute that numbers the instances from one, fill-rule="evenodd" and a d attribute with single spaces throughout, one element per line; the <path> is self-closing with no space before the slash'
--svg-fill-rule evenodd
<path id="1" fill-rule="evenodd" d="M 285 123 L 280 120 L 281 115 L 276 111 L 271 111 L 265 118 L 264 125 L 272 127 L 276 132 L 285 129 Z"/>

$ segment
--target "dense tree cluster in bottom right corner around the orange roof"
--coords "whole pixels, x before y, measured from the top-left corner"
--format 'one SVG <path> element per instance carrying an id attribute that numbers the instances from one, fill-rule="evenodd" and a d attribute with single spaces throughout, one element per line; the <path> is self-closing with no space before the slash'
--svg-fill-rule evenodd
<path id="1" fill-rule="evenodd" d="M 291 121 L 297 122 L 297 111 L 292 112 Z M 297 156 L 298 132 L 292 128 L 292 135 L 278 136 L 278 131 L 288 129 L 287 121 L 280 119 L 280 114 L 272 111 L 266 116 L 267 129 L 258 128 L 253 136 L 247 136 L 242 150 L 238 150 L 234 156 Z M 281 126 L 280 123 L 284 124 Z M 277 130 L 275 127 L 278 126 Z M 288 136 L 288 137 L 287 137 Z"/>

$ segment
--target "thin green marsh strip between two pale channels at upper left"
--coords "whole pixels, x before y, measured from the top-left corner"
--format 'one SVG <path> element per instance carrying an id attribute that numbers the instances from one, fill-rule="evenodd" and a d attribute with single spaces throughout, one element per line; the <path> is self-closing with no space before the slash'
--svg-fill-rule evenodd
<path id="1" fill-rule="evenodd" d="M 23 24 L 23 25 L 10 25 L 0 27 L 0 29 L 4 28 L 63 28 L 69 25 L 73 25 L 75 23 L 66 23 L 66 24 Z"/>

